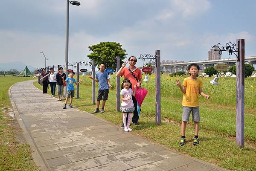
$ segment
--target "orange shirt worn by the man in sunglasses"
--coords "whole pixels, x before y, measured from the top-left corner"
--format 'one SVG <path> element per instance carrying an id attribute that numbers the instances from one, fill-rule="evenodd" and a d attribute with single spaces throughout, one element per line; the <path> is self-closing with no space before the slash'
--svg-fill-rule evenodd
<path id="1" fill-rule="evenodd" d="M 134 75 L 140 80 L 142 78 L 141 70 L 139 68 L 135 68 L 135 70 L 132 70 Z M 137 80 L 131 75 L 131 72 L 128 70 L 128 67 L 124 67 L 121 71 L 121 77 L 125 76 L 125 78 L 128 78 L 131 81 L 131 88 L 134 91 L 134 84 L 137 84 Z"/>

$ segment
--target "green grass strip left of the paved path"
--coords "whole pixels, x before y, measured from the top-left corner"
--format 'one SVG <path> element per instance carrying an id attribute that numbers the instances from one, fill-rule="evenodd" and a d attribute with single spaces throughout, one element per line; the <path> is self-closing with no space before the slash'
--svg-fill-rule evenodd
<path id="1" fill-rule="evenodd" d="M 29 145 L 17 141 L 17 128 L 14 120 L 7 115 L 8 108 L 12 108 L 8 90 L 13 84 L 32 78 L 0 76 L 0 171 L 39 171 L 35 166 Z M 20 135 L 22 136 L 22 135 Z"/>

